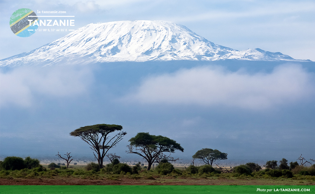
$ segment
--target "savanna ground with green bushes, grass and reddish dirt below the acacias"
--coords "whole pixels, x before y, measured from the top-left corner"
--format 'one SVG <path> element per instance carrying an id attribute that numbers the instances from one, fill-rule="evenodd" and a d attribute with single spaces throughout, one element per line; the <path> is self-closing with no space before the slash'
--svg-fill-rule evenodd
<path id="1" fill-rule="evenodd" d="M 1 185 L 315 185 L 314 165 L 292 170 L 252 171 L 246 165 L 223 170 L 210 165 L 174 167 L 160 163 L 147 170 L 140 163 L 95 163 L 65 166 L 38 165 L 34 168 L 0 171 Z M 228 172 L 230 171 L 230 172 Z"/>

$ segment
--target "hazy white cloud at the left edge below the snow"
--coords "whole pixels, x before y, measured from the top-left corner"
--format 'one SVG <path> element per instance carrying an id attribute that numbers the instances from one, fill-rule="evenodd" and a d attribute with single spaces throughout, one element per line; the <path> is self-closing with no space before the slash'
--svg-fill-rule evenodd
<path id="1" fill-rule="evenodd" d="M 0 79 L 1 106 L 28 107 L 36 94 L 50 98 L 84 94 L 93 82 L 93 74 L 87 68 L 70 66 L 19 67 L 0 72 Z"/>

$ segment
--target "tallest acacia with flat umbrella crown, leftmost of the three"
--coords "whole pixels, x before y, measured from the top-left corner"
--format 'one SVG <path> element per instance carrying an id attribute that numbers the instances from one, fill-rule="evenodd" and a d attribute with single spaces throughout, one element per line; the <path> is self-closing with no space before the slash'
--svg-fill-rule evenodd
<path id="1" fill-rule="evenodd" d="M 103 168 L 103 160 L 108 150 L 115 147 L 123 139 L 123 136 L 127 134 L 121 131 L 122 129 L 123 127 L 120 125 L 97 124 L 80 127 L 71 132 L 70 135 L 81 137 L 83 141 L 88 143 L 93 150 L 94 157 L 97 159 L 100 168 Z M 108 134 L 115 131 L 121 132 L 118 132 L 113 137 L 108 136 Z"/>

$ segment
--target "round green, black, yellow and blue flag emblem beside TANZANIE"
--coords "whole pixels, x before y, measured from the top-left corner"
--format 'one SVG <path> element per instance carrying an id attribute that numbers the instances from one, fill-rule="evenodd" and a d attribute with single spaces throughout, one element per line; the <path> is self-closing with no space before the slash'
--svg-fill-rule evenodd
<path id="1" fill-rule="evenodd" d="M 30 21 L 31 25 L 30 25 Z M 28 37 L 34 34 L 38 28 L 38 25 L 34 25 L 34 21 L 38 21 L 38 17 L 31 9 L 18 9 L 12 13 L 10 18 L 10 28 L 15 35 L 20 37 Z"/>

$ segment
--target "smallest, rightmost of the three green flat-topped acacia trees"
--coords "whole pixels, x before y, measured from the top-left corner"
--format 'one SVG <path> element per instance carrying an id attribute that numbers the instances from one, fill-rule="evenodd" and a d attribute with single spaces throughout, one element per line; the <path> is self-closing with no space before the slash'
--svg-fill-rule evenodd
<path id="1" fill-rule="evenodd" d="M 220 152 L 217 149 L 213 150 L 210 148 L 202 148 L 201 150 L 198 150 L 196 154 L 192 156 L 192 158 L 199 159 L 199 161 L 212 166 L 213 162 L 217 160 L 226 160 L 227 154 Z"/>

